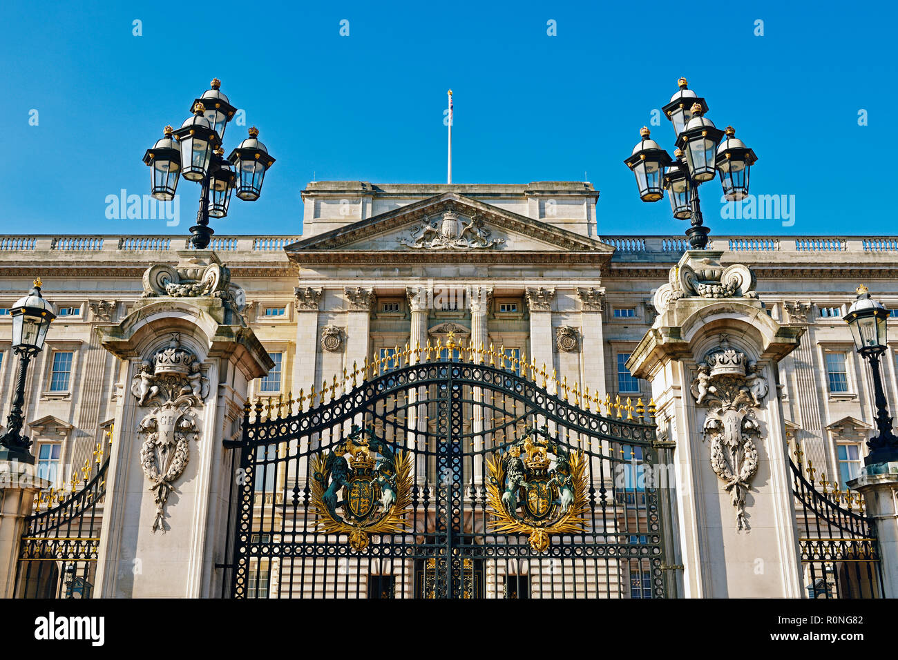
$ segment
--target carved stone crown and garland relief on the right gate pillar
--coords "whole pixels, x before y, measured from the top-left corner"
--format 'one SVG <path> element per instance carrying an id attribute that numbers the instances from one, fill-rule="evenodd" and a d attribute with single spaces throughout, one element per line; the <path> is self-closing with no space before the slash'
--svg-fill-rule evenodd
<path id="1" fill-rule="evenodd" d="M 711 441 L 711 469 L 732 496 L 737 529 L 747 529 L 745 494 L 758 471 L 755 442 L 762 439 L 755 409 L 767 396 L 767 380 L 761 367 L 721 335 L 719 348 L 705 356 L 690 389 L 696 404 L 709 408 L 702 432 Z"/>

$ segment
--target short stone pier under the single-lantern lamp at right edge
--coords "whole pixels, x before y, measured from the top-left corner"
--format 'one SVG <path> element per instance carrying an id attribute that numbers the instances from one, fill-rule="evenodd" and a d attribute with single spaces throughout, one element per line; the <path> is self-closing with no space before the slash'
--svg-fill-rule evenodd
<path id="1" fill-rule="evenodd" d="M 848 486 L 864 496 L 865 513 L 876 524 L 883 596 L 898 598 L 898 462 L 865 465 Z"/>

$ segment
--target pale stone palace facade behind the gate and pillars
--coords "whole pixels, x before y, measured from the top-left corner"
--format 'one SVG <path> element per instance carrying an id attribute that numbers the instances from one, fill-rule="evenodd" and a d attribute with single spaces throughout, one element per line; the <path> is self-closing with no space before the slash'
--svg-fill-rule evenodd
<path id="1" fill-rule="evenodd" d="M 389 369 L 397 352 L 445 347 L 450 338 L 544 365 L 600 400 L 651 397 L 627 362 L 656 321 L 656 291 L 688 245 L 680 236 L 607 233 L 611 227 L 597 226 L 591 184 L 317 181 L 303 198 L 303 235 L 216 236 L 210 246 L 245 292 L 243 321 L 275 365 L 252 382 L 253 400 L 293 398 L 373 358 Z M 9 307 L 41 277 L 58 313 L 26 386 L 27 433 L 42 478 L 61 484 L 91 460 L 128 392 L 95 327 L 126 317 L 146 268 L 174 266 L 187 241 L 0 236 L 0 420 L 16 362 Z M 898 239 L 712 234 L 709 250 L 722 252 L 724 266 L 750 267 L 764 311 L 803 329 L 770 394 L 781 401 L 792 449 L 844 489 L 862 464 L 874 407 L 869 370 L 842 316 L 864 284 L 898 318 Z M 883 360 L 893 410 L 896 348 Z"/>

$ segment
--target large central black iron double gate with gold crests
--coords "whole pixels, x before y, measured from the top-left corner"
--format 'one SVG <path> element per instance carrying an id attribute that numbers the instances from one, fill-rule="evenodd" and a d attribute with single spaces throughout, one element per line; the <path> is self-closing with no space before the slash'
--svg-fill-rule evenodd
<path id="1" fill-rule="evenodd" d="M 235 444 L 231 594 L 663 597 L 653 412 L 451 345 L 257 401 Z"/>

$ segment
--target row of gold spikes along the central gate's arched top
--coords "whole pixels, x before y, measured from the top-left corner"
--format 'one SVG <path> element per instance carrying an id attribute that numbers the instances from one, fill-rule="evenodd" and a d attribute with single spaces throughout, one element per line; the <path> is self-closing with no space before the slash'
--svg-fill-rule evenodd
<path id="1" fill-rule="evenodd" d="M 507 353 L 504 346 L 496 348 L 490 344 L 489 348 L 484 348 L 481 342 L 478 347 L 472 340 L 464 345 L 456 342 L 453 332 L 447 333 L 445 344 L 442 339 L 437 339 L 436 343 L 428 340 L 424 347 L 416 342 L 413 348 L 406 344 L 404 348 L 394 346 L 391 354 L 365 356 L 361 364 L 353 362 L 352 371 L 344 368 L 342 377 L 334 374 L 330 383 L 325 380 L 320 387 L 313 384 L 308 393 L 300 390 L 295 399 L 293 392 L 288 392 L 286 400 L 283 399 L 283 394 L 278 394 L 277 398 L 257 396 L 255 403 L 246 400 L 243 415 L 247 419 L 252 416 L 254 422 L 291 417 L 300 411 L 318 408 L 337 400 L 368 381 L 400 367 L 443 361 L 494 366 L 518 374 L 541 389 L 554 393 L 560 400 L 590 413 L 621 421 L 655 424 L 654 399 L 649 400 L 646 405 L 641 397 L 634 402 L 632 397 L 621 400 L 621 395 L 616 394 L 612 400 L 612 395 L 606 394 L 603 401 L 599 398 L 599 393 L 591 393 L 588 386 L 581 389 L 577 381 L 568 384 L 567 375 L 559 379 L 556 371 L 548 369 L 545 363 L 538 366 L 533 357 L 528 362 L 524 352 L 515 356 L 514 353 Z"/>

